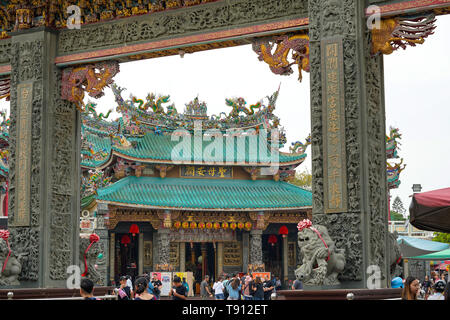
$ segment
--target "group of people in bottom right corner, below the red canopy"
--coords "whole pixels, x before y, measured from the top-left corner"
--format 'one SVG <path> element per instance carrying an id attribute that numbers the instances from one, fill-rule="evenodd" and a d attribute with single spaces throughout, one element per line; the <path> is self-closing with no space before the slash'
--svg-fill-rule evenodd
<path id="1" fill-rule="evenodd" d="M 449 300 L 450 282 L 448 274 L 441 275 L 432 272 L 431 277 L 425 276 L 420 282 L 416 277 L 409 276 L 403 281 L 397 277 L 392 279 L 392 288 L 403 288 L 403 300 Z"/>

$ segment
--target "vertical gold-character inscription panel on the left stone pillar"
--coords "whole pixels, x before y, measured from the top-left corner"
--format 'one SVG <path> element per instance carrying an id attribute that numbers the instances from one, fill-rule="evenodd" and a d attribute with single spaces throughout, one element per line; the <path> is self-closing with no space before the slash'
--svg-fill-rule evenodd
<path id="1" fill-rule="evenodd" d="M 19 84 L 18 94 L 18 146 L 17 146 L 17 212 L 15 226 L 30 225 L 30 176 L 31 176 L 31 108 L 32 83 Z"/>

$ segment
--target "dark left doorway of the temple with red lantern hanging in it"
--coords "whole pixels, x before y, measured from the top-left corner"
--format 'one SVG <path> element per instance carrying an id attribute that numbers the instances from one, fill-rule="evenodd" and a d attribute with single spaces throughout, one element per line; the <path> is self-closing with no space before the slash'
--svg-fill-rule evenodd
<path id="1" fill-rule="evenodd" d="M 116 281 L 122 275 L 129 275 L 134 279 L 138 275 L 138 237 L 133 237 L 127 233 L 117 233 L 115 239 L 114 270 L 116 270 Z"/>

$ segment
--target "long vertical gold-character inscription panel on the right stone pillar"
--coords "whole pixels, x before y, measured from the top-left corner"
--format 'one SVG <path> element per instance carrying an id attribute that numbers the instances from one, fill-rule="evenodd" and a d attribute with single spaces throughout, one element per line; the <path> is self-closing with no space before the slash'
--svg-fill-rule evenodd
<path id="1" fill-rule="evenodd" d="M 347 211 L 342 39 L 322 41 L 324 211 Z"/>

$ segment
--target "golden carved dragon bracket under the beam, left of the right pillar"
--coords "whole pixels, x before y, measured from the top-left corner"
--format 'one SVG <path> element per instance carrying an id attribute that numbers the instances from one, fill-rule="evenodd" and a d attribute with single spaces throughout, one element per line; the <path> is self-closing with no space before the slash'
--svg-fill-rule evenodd
<path id="1" fill-rule="evenodd" d="M 275 51 L 272 52 L 272 49 Z M 253 41 L 253 51 L 260 61 L 266 62 L 270 70 L 278 75 L 290 75 L 292 65 L 298 65 L 298 80 L 302 81 L 302 71 L 309 72 L 309 36 L 306 34 L 283 35 L 257 38 Z M 288 60 L 292 51 L 291 61 Z"/>

